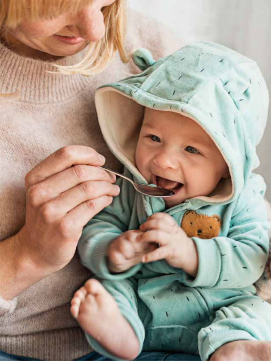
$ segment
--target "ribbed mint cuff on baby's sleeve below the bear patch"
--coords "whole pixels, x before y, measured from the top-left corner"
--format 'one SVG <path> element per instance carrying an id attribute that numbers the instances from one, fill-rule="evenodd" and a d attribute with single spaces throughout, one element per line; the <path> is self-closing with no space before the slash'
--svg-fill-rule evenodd
<path id="1" fill-rule="evenodd" d="M 184 272 L 184 284 L 189 287 L 213 287 L 219 280 L 221 272 L 221 255 L 214 239 L 202 240 L 192 237 L 195 242 L 199 266 L 196 278 Z"/>

